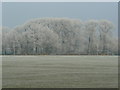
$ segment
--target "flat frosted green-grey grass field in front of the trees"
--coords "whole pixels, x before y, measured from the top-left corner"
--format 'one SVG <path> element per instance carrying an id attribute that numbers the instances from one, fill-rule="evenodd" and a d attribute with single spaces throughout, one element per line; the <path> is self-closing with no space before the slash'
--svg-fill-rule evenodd
<path id="1" fill-rule="evenodd" d="M 3 56 L 3 88 L 117 88 L 117 56 Z"/>

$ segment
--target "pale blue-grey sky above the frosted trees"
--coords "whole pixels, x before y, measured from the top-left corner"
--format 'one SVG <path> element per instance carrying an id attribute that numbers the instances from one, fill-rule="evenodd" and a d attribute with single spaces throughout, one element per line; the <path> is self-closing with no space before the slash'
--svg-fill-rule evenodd
<path id="1" fill-rule="evenodd" d="M 69 17 L 82 21 L 107 19 L 118 31 L 117 2 L 7 2 L 2 4 L 2 24 L 13 28 L 32 18 Z M 1 6 L 1 5 L 0 5 Z"/>

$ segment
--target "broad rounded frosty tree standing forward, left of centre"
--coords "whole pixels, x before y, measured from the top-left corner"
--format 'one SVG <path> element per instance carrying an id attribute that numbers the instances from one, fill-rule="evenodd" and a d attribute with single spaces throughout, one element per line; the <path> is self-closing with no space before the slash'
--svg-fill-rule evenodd
<path id="1" fill-rule="evenodd" d="M 59 48 L 58 35 L 36 21 L 16 28 L 16 31 L 22 35 L 20 41 L 24 54 L 53 54 Z"/>

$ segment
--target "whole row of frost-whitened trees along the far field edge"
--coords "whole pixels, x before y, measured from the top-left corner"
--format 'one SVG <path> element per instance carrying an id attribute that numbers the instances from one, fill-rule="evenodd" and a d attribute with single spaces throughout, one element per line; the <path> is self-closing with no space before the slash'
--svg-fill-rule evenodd
<path id="1" fill-rule="evenodd" d="M 115 28 L 108 20 L 32 19 L 2 27 L 3 55 L 117 55 Z"/>

